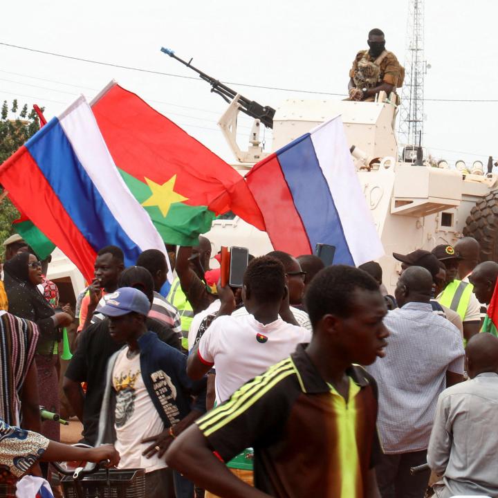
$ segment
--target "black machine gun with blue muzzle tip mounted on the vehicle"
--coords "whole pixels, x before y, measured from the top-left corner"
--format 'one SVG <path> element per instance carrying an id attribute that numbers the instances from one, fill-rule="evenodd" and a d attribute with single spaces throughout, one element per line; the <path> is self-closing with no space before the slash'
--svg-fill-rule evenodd
<path id="1" fill-rule="evenodd" d="M 192 64 L 190 64 L 192 62 L 192 59 L 190 59 L 189 62 L 184 61 L 180 57 L 176 56 L 173 50 L 169 50 L 169 48 L 163 47 L 161 48 L 161 52 L 169 55 L 169 57 L 173 57 L 178 62 L 181 62 L 184 66 L 187 66 L 187 68 L 195 71 L 199 75 L 201 80 L 204 80 L 211 85 L 211 91 L 217 93 L 218 95 L 221 95 L 221 97 L 226 102 L 228 102 L 228 104 L 230 104 L 232 100 L 234 100 L 234 98 L 237 96 L 237 92 L 232 90 L 230 86 L 226 86 L 219 80 L 214 79 L 214 77 L 211 77 L 206 73 L 203 73 L 203 71 L 200 71 L 196 67 L 192 66 Z M 249 100 L 242 95 L 239 95 L 239 104 L 240 110 L 243 113 L 246 113 L 251 118 L 259 119 L 266 127 L 273 128 L 273 116 L 275 116 L 275 109 L 269 106 L 262 106 L 258 102 Z"/>

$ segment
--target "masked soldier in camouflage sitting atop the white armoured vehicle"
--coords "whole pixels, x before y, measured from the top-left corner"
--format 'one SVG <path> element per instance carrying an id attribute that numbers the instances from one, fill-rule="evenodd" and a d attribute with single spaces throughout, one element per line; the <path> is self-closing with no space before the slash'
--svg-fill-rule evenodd
<path id="1" fill-rule="evenodd" d="M 380 91 L 387 95 L 400 88 L 405 68 L 394 53 L 385 49 L 384 33 L 380 29 L 369 32 L 369 50 L 360 50 L 349 71 L 349 99 L 373 102 Z"/>

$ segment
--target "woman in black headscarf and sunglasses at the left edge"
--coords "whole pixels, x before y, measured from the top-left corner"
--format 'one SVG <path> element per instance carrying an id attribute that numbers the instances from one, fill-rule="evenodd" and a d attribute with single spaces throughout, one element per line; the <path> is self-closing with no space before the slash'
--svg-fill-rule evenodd
<path id="1" fill-rule="evenodd" d="M 9 301 L 9 313 L 37 324 L 39 340 L 36 348 L 38 393 L 40 403 L 50 412 L 59 412 L 58 355 L 55 344 L 62 338 L 61 327 L 73 322 L 68 313 L 55 313 L 37 287 L 42 282 L 42 264 L 35 255 L 21 252 L 3 265 L 4 284 Z M 42 434 L 59 441 L 60 426 L 46 421 Z"/>

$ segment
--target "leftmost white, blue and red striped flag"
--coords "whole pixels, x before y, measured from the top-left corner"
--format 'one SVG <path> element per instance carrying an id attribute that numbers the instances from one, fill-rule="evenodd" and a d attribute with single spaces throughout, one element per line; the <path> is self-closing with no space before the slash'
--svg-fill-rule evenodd
<path id="1" fill-rule="evenodd" d="M 10 199 L 93 279 L 96 253 L 109 244 L 133 265 L 164 242 L 124 184 L 82 96 L 53 118 L 0 167 Z"/>

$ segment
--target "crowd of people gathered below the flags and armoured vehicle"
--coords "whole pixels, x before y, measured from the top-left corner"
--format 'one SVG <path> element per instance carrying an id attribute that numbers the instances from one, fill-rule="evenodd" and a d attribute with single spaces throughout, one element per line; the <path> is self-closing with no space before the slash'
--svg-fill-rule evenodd
<path id="1" fill-rule="evenodd" d="M 21 237 L 4 246 L 2 479 L 108 460 L 144 469 L 147 498 L 498 496 L 498 264 L 475 239 L 394 253 L 394 295 L 375 261 L 275 250 L 230 287 L 205 237 L 128 268 L 107 246 L 75 308 Z M 90 450 L 39 416 L 71 324 L 64 394 Z"/>

